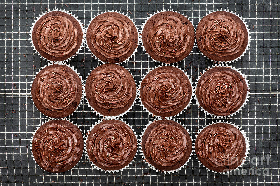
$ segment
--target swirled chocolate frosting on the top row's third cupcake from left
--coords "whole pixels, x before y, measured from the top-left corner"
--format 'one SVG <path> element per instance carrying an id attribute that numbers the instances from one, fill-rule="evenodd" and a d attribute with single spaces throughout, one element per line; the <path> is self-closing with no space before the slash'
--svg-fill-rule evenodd
<path id="1" fill-rule="evenodd" d="M 175 16 L 168 16 L 155 23 L 149 31 L 147 43 L 158 56 L 179 57 L 188 48 L 190 27 Z"/>

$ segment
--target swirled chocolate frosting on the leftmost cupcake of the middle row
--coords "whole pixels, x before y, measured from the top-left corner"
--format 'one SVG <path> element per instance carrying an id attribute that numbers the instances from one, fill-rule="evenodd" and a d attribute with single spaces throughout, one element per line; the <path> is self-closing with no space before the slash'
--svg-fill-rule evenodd
<path id="1" fill-rule="evenodd" d="M 72 73 L 69 73 L 69 70 Z M 73 107 L 78 88 L 81 89 L 81 82 L 77 83 L 79 76 L 68 66 L 51 65 L 45 67 L 36 75 L 35 96 L 45 109 L 55 112 L 65 112 Z M 81 90 L 80 90 L 81 91 Z M 76 109 L 74 108 L 74 109 Z M 68 116 L 68 115 L 66 115 Z"/>

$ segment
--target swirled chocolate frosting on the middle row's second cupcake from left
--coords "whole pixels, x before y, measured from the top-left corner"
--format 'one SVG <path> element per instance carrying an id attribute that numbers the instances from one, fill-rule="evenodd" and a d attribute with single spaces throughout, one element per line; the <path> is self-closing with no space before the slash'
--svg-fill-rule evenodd
<path id="1" fill-rule="evenodd" d="M 91 96 L 105 109 L 123 108 L 132 98 L 133 86 L 123 70 L 107 68 L 92 74 Z M 135 83 L 134 83 L 135 84 Z"/>

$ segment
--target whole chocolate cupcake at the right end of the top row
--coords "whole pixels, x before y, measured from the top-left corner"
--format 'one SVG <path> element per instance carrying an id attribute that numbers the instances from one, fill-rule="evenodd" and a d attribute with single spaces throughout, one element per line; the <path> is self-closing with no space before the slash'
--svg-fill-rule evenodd
<path id="1" fill-rule="evenodd" d="M 213 61 L 235 61 L 250 46 L 248 26 L 232 11 L 214 11 L 196 29 L 199 50 Z"/>

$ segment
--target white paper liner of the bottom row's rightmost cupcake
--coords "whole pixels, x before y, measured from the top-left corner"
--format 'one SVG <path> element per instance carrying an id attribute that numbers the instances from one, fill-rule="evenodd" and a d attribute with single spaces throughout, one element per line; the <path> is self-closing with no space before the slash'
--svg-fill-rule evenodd
<path id="1" fill-rule="evenodd" d="M 208 169 L 207 167 L 205 167 L 205 166 L 199 161 L 199 159 L 198 159 L 196 153 L 195 153 L 195 156 L 197 157 L 199 164 L 201 164 L 206 170 L 209 170 L 209 171 L 212 171 L 212 172 L 215 172 L 215 173 L 220 173 L 220 174 L 226 174 L 226 173 L 230 173 L 230 172 L 232 172 L 232 171 L 236 171 L 236 170 L 238 170 L 238 169 L 244 164 L 245 161 L 247 161 L 247 160 L 246 160 L 246 157 L 248 157 L 248 155 L 249 155 L 249 150 L 250 150 L 250 148 L 249 148 L 249 146 L 250 146 L 250 144 L 249 144 L 249 138 L 246 136 L 246 133 L 244 133 L 244 130 L 242 130 L 241 127 L 239 127 L 238 125 L 235 125 L 235 123 L 232 124 L 231 122 L 229 123 L 229 122 L 227 122 L 227 121 L 226 121 L 226 122 L 225 122 L 225 121 L 216 121 L 216 122 L 212 122 L 212 123 L 209 124 L 209 125 L 216 124 L 216 123 L 225 123 L 225 124 L 232 125 L 232 126 L 236 127 L 236 128 L 241 132 L 241 134 L 243 135 L 243 137 L 244 137 L 244 139 L 245 139 L 245 143 L 246 143 L 246 152 L 245 152 L 245 156 L 244 156 L 244 159 L 242 160 L 241 164 L 240 164 L 238 167 L 236 167 L 236 169 L 233 169 L 233 170 L 229 170 L 229 171 L 225 171 L 225 172 L 216 172 L 216 171 L 214 171 L 214 170 L 211 170 L 211 169 Z M 209 125 L 205 125 L 204 127 L 202 127 L 202 129 L 199 129 L 197 135 L 195 135 L 195 140 L 196 140 L 198 134 L 199 134 L 205 127 L 207 127 L 207 126 L 209 126 Z"/>

